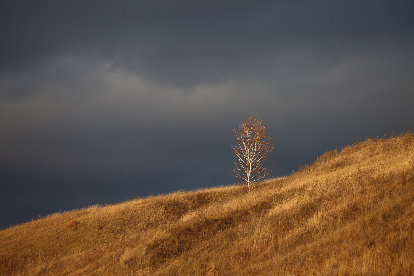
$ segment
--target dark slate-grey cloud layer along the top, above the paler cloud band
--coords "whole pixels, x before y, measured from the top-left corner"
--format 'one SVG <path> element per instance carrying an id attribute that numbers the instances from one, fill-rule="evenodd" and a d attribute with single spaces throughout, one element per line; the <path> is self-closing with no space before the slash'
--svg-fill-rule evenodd
<path id="1" fill-rule="evenodd" d="M 414 24 L 412 4 L 380 1 L 10 2 L 2 11 L 3 70 L 86 52 L 184 86 L 232 77 L 295 45 L 358 51 L 357 39 L 406 39 Z"/>

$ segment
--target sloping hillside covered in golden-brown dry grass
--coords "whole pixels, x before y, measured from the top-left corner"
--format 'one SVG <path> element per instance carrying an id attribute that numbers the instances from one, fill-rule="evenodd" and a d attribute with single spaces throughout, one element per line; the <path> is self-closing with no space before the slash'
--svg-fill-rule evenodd
<path id="1" fill-rule="evenodd" d="M 0 231 L 1 275 L 413 275 L 414 135 L 244 186 L 89 206 Z"/>

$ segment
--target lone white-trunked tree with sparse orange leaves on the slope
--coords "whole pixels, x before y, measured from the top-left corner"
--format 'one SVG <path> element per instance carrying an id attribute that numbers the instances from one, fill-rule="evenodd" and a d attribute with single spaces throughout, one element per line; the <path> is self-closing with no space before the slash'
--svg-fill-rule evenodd
<path id="1" fill-rule="evenodd" d="M 267 177 L 273 169 L 264 167 L 263 162 L 273 152 L 274 140 L 267 136 L 270 132 L 267 132 L 266 126 L 262 126 L 258 116 L 248 116 L 234 132 L 237 143 L 232 148 L 236 158 L 230 174 L 243 179 L 250 194 L 250 189 L 260 185 L 251 186 L 252 183 Z"/>

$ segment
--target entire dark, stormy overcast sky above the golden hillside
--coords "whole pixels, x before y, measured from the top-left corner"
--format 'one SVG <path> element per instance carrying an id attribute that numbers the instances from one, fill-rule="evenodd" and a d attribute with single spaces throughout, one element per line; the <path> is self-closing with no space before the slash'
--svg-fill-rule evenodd
<path id="1" fill-rule="evenodd" d="M 268 165 L 414 126 L 412 1 L 2 1 L 0 228 L 229 185 L 260 115 Z"/>

